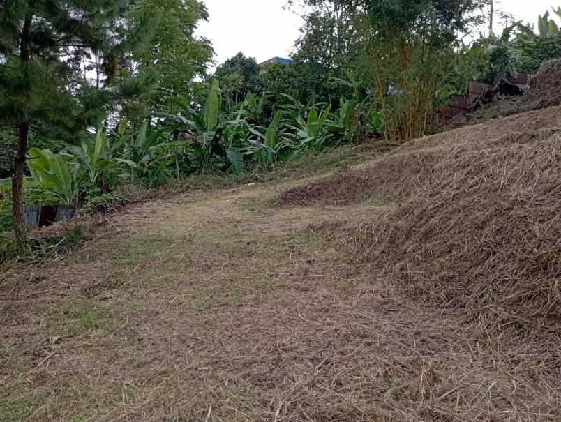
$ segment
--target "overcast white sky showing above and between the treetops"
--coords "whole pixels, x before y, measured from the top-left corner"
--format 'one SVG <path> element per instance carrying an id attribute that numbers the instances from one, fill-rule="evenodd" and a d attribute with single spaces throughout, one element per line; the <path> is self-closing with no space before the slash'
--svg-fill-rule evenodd
<path id="1" fill-rule="evenodd" d="M 260 63 L 274 56 L 287 57 L 299 36 L 301 20 L 283 10 L 286 0 L 204 0 L 211 22 L 197 34 L 209 38 L 217 63 L 243 52 Z M 535 23 L 537 15 L 561 6 L 561 0 L 502 0 L 501 8 L 517 19 Z M 560 19 L 556 17 L 560 22 Z"/>

